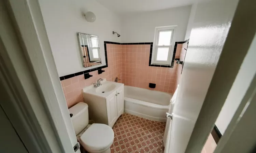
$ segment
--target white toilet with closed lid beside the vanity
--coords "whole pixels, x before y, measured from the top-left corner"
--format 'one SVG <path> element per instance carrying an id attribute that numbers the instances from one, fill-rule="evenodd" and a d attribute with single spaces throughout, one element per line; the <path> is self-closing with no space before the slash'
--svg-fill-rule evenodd
<path id="1" fill-rule="evenodd" d="M 106 124 L 88 124 L 88 105 L 80 102 L 69 108 L 76 138 L 89 153 L 110 153 L 114 131 Z"/>

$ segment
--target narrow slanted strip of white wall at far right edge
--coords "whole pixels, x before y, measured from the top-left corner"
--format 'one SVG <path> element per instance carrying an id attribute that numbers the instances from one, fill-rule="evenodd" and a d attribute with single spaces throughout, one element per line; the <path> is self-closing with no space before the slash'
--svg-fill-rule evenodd
<path id="1" fill-rule="evenodd" d="M 228 97 L 223 105 L 221 112 L 215 122 L 219 132 L 223 135 L 230 123 L 234 113 L 240 105 L 242 98 L 244 97 L 251 81 L 256 74 L 256 37 L 252 42 L 252 45 L 244 58 L 243 64 L 237 74 L 232 88 L 229 91 Z"/>

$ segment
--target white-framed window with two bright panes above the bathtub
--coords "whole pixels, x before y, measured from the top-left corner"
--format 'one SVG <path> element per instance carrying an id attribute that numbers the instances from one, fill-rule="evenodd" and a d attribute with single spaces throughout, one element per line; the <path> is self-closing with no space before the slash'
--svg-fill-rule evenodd
<path id="1" fill-rule="evenodd" d="M 151 64 L 171 65 L 177 26 L 156 27 Z"/>

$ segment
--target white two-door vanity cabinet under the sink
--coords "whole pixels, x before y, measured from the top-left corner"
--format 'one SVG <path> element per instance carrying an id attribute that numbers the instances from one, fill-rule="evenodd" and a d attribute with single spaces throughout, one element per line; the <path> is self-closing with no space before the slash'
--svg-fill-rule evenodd
<path id="1" fill-rule="evenodd" d="M 83 89 L 84 101 L 88 104 L 89 119 L 94 120 L 95 123 L 103 123 L 113 127 L 118 117 L 124 113 L 124 84 L 114 84 L 115 88 L 108 91 L 109 93 L 103 91 L 104 82 L 102 89 L 100 89 L 101 92 L 104 92 L 102 94 L 91 94 Z"/>

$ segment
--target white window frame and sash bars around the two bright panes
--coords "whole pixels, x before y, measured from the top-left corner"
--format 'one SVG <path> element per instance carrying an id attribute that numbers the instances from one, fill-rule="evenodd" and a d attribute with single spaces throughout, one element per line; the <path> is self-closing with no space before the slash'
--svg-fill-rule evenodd
<path id="1" fill-rule="evenodd" d="M 177 29 L 177 26 L 165 26 L 165 27 L 156 27 L 155 28 L 155 37 L 154 37 L 154 43 L 153 43 L 153 49 L 152 49 L 151 64 L 153 64 L 153 65 L 171 65 L 172 64 L 173 50 L 174 50 L 175 37 L 176 37 L 176 29 Z M 171 45 L 158 46 L 159 32 L 161 32 L 161 31 L 172 31 L 172 36 L 171 36 L 171 40 L 170 40 Z M 157 49 L 159 47 L 169 47 L 167 61 L 157 61 L 156 60 Z"/>

